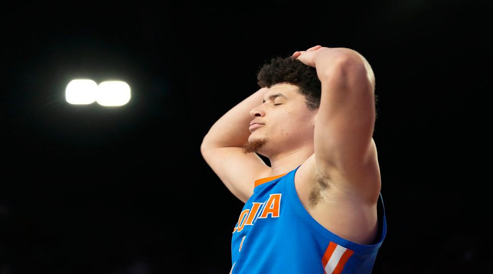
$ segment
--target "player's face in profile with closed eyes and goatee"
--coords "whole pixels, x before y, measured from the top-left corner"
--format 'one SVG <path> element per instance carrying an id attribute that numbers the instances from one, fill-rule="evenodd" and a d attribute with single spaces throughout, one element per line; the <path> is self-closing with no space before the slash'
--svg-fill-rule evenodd
<path id="1" fill-rule="evenodd" d="M 249 128 L 251 150 L 269 157 L 297 147 L 313 146 L 318 110 L 307 109 L 305 97 L 297 90 L 297 86 L 288 83 L 273 85 L 265 92 L 263 104 L 250 111 L 252 120 L 261 123 Z"/>

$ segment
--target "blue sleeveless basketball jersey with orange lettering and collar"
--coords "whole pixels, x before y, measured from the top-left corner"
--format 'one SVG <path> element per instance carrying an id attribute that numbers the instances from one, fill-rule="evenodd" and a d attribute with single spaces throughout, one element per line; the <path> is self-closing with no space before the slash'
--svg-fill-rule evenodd
<path id="1" fill-rule="evenodd" d="M 371 273 L 387 231 L 382 195 L 376 244 L 356 244 L 327 230 L 304 209 L 294 186 L 298 168 L 255 181 L 233 229 L 230 273 Z"/>

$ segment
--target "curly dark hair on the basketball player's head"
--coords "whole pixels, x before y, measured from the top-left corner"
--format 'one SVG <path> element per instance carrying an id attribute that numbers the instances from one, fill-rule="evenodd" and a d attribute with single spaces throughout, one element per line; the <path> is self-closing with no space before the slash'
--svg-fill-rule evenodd
<path id="1" fill-rule="evenodd" d="M 317 76 L 315 67 L 303 64 L 291 56 L 275 57 L 270 63 L 264 64 L 257 74 L 258 85 L 268 87 L 278 83 L 290 83 L 298 86 L 298 92 L 305 97 L 306 108 L 316 110 L 320 107 L 322 83 Z M 375 94 L 375 118 L 377 113 L 378 95 Z"/>

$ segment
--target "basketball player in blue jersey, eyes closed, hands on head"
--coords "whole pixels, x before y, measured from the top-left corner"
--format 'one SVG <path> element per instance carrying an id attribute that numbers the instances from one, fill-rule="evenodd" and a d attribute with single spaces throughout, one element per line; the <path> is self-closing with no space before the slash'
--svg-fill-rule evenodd
<path id="1" fill-rule="evenodd" d="M 272 59 L 258 80 L 201 145 L 245 202 L 231 273 L 371 273 L 386 233 L 371 66 L 315 46 Z"/>

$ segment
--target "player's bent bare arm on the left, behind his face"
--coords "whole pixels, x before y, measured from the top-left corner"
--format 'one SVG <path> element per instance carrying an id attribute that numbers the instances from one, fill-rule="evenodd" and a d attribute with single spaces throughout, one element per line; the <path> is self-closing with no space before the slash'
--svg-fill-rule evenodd
<path id="1" fill-rule="evenodd" d="M 269 168 L 256 153 L 244 154 L 253 117 L 250 111 L 261 105 L 266 89 L 261 88 L 230 109 L 204 136 L 200 151 L 204 160 L 238 199 L 253 194 L 254 182 Z"/>

